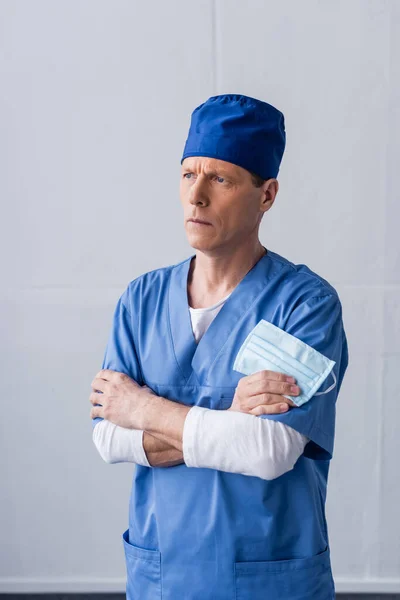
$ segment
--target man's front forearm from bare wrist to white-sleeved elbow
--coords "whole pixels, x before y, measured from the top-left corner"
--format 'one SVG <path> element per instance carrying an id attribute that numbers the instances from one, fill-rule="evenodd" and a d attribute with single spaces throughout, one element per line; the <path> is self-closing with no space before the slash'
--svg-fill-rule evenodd
<path id="1" fill-rule="evenodd" d="M 190 412 L 190 414 L 188 414 Z M 291 470 L 308 438 L 272 420 L 242 412 L 151 399 L 141 427 L 182 452 L 189 467 L 275 479 Z"/>

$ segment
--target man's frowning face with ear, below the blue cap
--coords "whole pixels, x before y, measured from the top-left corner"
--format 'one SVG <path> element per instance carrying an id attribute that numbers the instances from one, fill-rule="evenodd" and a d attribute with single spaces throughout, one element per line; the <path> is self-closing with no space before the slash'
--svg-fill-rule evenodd
<path id="1" fill-rule="evenodd" d="M 229 251 L 249 237 L 257 239 L 263 214 L 271 208 L 277 191 L 276 179 L 256 188 L 249 171 L 230 162 L 204 156 L 185 158 L 180 199 L 189 244 L 205 252 Z"/>

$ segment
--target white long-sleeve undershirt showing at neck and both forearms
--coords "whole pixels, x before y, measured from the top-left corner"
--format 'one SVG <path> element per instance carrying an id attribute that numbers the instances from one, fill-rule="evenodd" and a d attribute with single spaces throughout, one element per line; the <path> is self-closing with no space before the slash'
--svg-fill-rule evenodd
<path id="1" fill-rule="evenodd" d="M 196 342 L 228 298 L 207 308 L 189 307 Z M 125 429 L 104 419 L 94 427 L 93 441 L 107 463 L 152 466 L 143 448 L 142 430 Z M 188 467 L 275 479 L 293 469 L 308 441 L 308 437 L 279 421 L 192 406 L 183 427 L 182 454 Z"/>

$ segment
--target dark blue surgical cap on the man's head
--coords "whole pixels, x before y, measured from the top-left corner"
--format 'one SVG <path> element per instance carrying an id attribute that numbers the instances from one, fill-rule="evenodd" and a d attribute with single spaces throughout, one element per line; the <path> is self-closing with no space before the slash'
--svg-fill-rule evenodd
<path id="1" fill-rule="evenodd" d="M 285 143 L 284 116 L 271 104 L 242 94 L 211 96 L 192 112 L 181 164 L 208 156 L 269 179 L 278 175 Z"/>

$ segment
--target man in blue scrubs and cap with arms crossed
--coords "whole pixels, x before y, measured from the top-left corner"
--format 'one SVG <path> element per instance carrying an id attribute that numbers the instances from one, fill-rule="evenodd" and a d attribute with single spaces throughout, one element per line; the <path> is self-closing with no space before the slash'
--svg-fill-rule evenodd
<path id="1" fill-rule="evenodd" d="M 284 148 L 266 102 L 198 106 L 180 181 L 196 252 L 117 302 L 90 402 L 103 459 L 136 463 L 128 600 L 335 598 L 325 501 L 348 348 L 335 288 L 258 238 Z"/>

